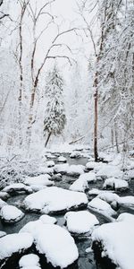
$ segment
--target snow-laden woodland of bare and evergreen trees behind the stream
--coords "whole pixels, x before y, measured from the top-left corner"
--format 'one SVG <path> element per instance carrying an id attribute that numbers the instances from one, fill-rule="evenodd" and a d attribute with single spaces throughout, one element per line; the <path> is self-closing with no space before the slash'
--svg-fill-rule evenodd
<path id="1" fill-rule="evenodd" d="M 133 149 L 134 1 L 1 1 L 0 145 Z M 76 14 L 76 20 L 75 20 Z M 73 20 L 74 19 L 74 20 Z"/>

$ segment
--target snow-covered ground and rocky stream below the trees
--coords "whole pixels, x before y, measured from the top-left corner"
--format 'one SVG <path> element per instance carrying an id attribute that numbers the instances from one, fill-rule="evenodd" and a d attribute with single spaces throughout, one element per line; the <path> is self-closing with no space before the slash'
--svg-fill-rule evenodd
<path id="1" fill-rule="evenodd" d="M 133 268 L 134 159 L 101 158 L 81 148 L 1 161 L 0 268 Z"/>

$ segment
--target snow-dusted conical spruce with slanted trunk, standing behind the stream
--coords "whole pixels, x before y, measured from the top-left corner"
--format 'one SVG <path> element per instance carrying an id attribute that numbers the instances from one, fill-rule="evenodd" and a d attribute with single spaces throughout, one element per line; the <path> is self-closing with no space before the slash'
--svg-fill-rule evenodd
<path id="1" fill-rule="evenodd" d="M 62 134 L 66 123 L 65 109 L 63 104 L 63 76 L 57 65 L 46 77 L 46 112 L 44 119 L 44 134 L 47 133 L 46 145 L 52 134 Z"/>

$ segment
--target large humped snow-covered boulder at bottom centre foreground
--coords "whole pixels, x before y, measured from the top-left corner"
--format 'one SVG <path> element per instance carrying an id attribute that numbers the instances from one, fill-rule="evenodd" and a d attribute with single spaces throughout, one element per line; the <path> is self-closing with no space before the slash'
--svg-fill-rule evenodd
<path id="1" fill-rule="evenodd" d="M 32 234 L 39 254 L 45 255 L 47 263 L 51 263 L 54 267 L 66 268 L 79 257 L 71 234 L 58 225 L 30 221 L 20 232 Z"/>

